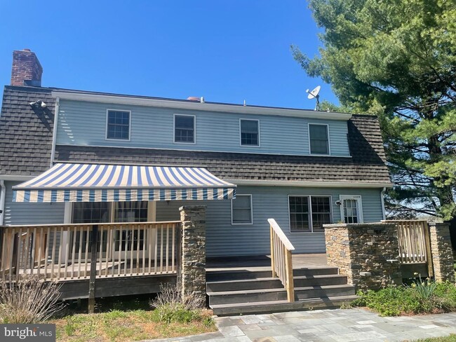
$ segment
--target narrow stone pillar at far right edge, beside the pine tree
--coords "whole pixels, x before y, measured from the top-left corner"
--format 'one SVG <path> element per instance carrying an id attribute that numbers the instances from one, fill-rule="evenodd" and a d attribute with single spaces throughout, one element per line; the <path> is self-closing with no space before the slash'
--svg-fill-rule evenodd
<path id="1" fill-rule="evenodd" d="M 450 224 L 429 222 L 432 263 L 436 282 L 455 282 L 454 259 L 451 247 Z"/>

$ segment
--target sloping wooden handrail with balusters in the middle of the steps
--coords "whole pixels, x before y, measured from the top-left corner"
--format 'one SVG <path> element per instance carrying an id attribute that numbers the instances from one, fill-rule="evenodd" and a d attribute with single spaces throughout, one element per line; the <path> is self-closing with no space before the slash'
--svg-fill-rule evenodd
<path id="1" fill-rule="evenodd" d="M 276 276 L 287 291 L 289 302 L 295 301 L 295 285 L 293 282 L 293 259 L 291 252 L 295 247 L 283 233 L 276 220 L 268 219 L 271 230 L 271 268 L 272 278 Z"/>

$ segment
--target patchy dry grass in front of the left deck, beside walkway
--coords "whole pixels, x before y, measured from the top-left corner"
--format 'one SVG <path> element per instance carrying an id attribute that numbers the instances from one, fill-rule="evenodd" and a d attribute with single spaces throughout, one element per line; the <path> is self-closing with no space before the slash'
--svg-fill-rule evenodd
<path id="1" fill-rule="evenodd" d="M 211 314 L 207 310 L 201 320 L 165 323 L 159 321 L 156 310 L 112 310 L 80 313 L 50 323 L 56 324 L 57 341 L 137 341 L 217 331 Z"/>

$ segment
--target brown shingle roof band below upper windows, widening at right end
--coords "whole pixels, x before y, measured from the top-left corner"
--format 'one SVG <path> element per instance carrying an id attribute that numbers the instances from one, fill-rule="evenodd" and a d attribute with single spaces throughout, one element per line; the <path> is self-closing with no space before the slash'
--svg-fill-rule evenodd
<path id="1" fill-rule="evenodd" d="M 353 116 L 349 146 L 352 158 L 67 145 L 56 146 L 55 156 L 72 162 L 204 166 L 222 179 L 389 183 L 377 118 Z"/>

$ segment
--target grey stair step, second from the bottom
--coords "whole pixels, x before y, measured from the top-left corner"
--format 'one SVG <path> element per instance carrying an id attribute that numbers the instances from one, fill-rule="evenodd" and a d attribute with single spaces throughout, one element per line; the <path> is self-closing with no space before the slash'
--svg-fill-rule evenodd
<path id="1" fill-rule="evenodd" d="M 295 287 L 295 299 L 308 299 L 330 296 L 350 296 L 355 294 L 352 285 L 326 285 Z M 273 289 L 246 289 L 241 291 L 208 292 L 209 305 L 229 303 L 252 303 L 261 301 L 283 301 L 287 298 L 286 290 Z"/>

